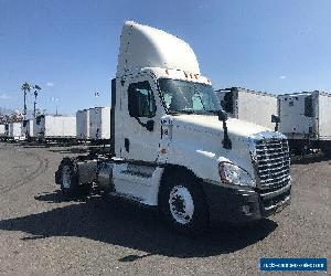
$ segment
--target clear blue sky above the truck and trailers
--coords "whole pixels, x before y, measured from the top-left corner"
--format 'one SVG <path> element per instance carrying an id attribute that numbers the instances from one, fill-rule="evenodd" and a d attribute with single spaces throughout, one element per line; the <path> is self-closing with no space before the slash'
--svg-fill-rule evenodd
<path id="1" fill-rule="evenodd" d="M 50 113 L 110 105 L 126 20 L 186 41 L 215 88 L 331 92 L 330 0 L 0 0 L 0 107 L 25 81 Z"/>

